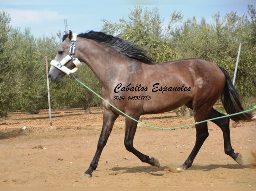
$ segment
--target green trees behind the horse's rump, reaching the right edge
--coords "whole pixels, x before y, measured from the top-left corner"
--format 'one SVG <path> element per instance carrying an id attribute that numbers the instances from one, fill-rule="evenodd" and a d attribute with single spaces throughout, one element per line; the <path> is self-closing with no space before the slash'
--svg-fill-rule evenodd
<path id="1" fill-rule="evenodd" d="M 181 58 L 201 58 L 225 68 L 234 77 L 239 44 L 242 43 L 235 87 L 241 96 L 256 95 L 255 34 L 256 12 L 248 6 L 250 19 L 231 11 L 221 19 L 213 16 L 215 24 L 195 17 L 169 32 L 173 48 Z"/>

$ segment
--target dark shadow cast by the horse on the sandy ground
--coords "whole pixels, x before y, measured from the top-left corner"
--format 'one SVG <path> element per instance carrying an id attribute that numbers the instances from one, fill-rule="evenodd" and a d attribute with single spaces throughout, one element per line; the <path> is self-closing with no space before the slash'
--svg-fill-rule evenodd
<path id="1" fill-rule="evenodd" d="M 211 171 L 218 168 L 227 168 L 227 169 L 244 169 L 244 168 L 250 168 L 250 164 L 246 165 L 238 165 L 238 164 L 209 164 L 209 165 L 192 165 L 188 170 L 203 170 L 203 171 Z M 159 168 L 154 166 L 134 166 L 132 168 L 129 167 L 113 167 L 109 170 L 112 171 L 121 171 L 117 173 L 145 173 L 145 174 L 151 174 L 155 176 L 163 176 L 166 172 L 170 172 L 169 166 L 160 166 Z M 173 172 L 174 173 L 174 172 Z"/>

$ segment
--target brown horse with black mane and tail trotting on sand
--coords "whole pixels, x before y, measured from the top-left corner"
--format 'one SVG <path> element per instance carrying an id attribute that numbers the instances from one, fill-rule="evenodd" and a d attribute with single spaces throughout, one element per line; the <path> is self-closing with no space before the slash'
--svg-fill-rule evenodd
<path id="1" fill-rule="evenodd" d="M 102 85 L 101 96 L 136 120 L 142 114 L 167 112 L 182 105 L 193 110 L 195 122 L 224 116 L 213 108 L 219 98 L 228 114 L 244 111 L 227 71 L 205 60 L 154 63 L 143 49 L 119 37 L 96 31 L 78 35 L 69 31 L 63 35 L 55 59 L 51 61 L 48 78 L 53 83 L 61 82 L 63 76 L 78 70 L 80 61 L 87 64 L 98 78 Z M 103 101 L 103 125 L 96 153 L 82 177 L 92 177 L 114 122 L 123 115 L 106 101 Z M 251 112 L 245 112 L 212 120 L 223 132 L 225 153 L 239 165 L 243 159 L 231 146 L 229 120 L 252 121 L 252 117 Z M 176 169 L 178 172 L 192 165 L 209 135 L 207 122 L 196 123 L 195 126 L 195 146 Z M 157 158 L 150 158 L 134 148 L 136 128 L 137 121 L 125 116 L 125 148 L 142 162 L 160 167 Z"/>

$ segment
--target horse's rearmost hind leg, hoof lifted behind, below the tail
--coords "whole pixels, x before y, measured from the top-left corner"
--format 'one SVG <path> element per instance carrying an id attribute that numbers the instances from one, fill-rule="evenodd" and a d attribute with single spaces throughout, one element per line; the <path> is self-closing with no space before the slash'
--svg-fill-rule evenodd
<path id="1" fill-rule="evenodd" d="M 212 110 L 209 113 L 208 118 L 210 119 L 210 118 L 216 118 L 216 117 L 220 117 L 220 116 L 225 116 L 225 115 L 216 111 L 214 108 L 212 108 Z M 218 125 L 223 132 L 225 153 L 227 155 L 231 156 L 239 165 L 242 165 L 242 162 L 243 162 L 242 155 L 239 153 L 235 153 L 234 149 L 231 146 L 229 117 L 215 119 L 212 122 L 214 122 L 216 125 Z"/>

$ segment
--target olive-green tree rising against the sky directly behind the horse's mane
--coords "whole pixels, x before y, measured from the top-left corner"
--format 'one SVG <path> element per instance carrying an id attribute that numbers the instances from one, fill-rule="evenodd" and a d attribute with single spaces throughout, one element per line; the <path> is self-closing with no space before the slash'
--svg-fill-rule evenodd
<path id="1" fill-rule="evenodd" d="M 171 48 L 168 36 L 163 29 L 163 19 L 158 9 L 152 11 L 140 6 L 134 6 L 128 15 L 128 20 L 119 19 L 119 23 L 103 20 L 102 30 L 112 35 L 119 34 L 120 38 L 129 40 L 148 51 L 148 56 L 155 62 L 176 60 L 178 54 Z"/>

